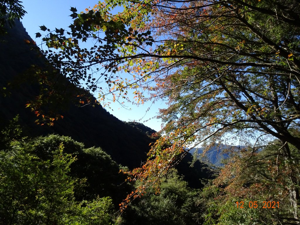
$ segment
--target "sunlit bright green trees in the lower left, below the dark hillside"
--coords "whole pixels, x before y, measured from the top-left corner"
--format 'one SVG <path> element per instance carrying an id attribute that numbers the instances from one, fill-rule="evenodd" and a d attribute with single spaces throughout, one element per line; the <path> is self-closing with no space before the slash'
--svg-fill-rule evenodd
<path id="1" fill-rule="evenodd" d="M 86 180 L 90 181 L 86 186 L 96 186 L 91 176 L 80 176 L 83 170 L 70 174 L 76 157 L 65 152 L 71 152 L 70 147 L 80 151 L 83 144 L 54 135 L 34 140 L 22 137 L 17 118 L 0 134 L 1 224 L 113 224 L 110 197 L 93 196 L 91 188 L 80 200 L 75 197 Z M 62 142 L 57 143 L 59 139 Z M 94 152 L 98 162 L 101 157 L 107 161 L 100 149 L 86 152 Z M 87 156 L 80 156 L 89 162 Z M 108 168 L 115 166 L 110 163 Z"/>

